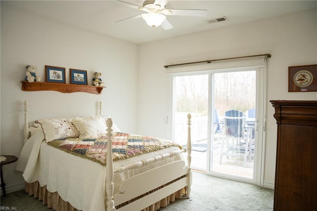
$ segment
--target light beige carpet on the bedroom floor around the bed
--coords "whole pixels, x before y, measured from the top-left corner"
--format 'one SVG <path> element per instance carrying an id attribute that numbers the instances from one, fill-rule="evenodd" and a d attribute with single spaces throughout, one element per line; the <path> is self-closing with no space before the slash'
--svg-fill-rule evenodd
<path id="1" fill-rule="evenodd" d="M 1 196 L 2 207 L 17 211 L 48 211 L 23 190 Z M 272 211 L 273 190 L 193 172 L 191 198 L 183 197 L 160 211 Z"/>

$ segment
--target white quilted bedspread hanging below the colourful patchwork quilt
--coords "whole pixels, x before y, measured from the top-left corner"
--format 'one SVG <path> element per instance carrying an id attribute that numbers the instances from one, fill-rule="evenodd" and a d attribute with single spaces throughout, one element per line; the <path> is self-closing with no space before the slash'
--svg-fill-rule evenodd
<path id="1" fill-rule="evenodd" d="M 43 139 L 42 132 L 35 133 L 21 151 L 16 170 L 24 170 L 23 177 L 25 181 L 28 183 L 39 181 L 42 187 L 47 185 L 48 191 L 52 193 L 57 191 L 64 201 L 69 202 L 78 210 L 104 211 L 106 166 L 55 149 L 43 142 Z M 175 150 L 179 150 L 179 148 L 166 148 L 133 158 L 117 160 L 113 162 L 113 169 Z M 113 181 L 115 184 L 114 193 L 118 192 L 122 180 L 162 163 L 179 159 L 182 159 L 181 155 L 151 166 L 115 175 Z"/>

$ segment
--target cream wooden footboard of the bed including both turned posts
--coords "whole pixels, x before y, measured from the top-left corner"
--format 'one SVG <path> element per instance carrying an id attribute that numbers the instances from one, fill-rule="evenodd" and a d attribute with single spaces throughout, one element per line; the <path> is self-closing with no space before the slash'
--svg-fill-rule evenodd
<path id="1" fill-rule="evenodd" d="M 106 174 L 106 193 L 107 193 L 107 211 L 114 211 L 119 205 L 119 211 L 143 210 L 161 199 L 173 194 L 186 187 L 187 197 L 190 196 L 190 186 L 192 183 L 191 173 L 191 136 L 190 125 L 191 115 L 188 114 L 188 140 L 187 149 L 182 149 L 132 163 L 128 166 L 120 167 L 113 171 L 112 168 L 112 151 L 107 149 L 107 174 Z M 112 120 L 107 121 L 108 146 L 111 146 L 111 125 Z M 177 160 L 164 164 L 154 169 L 145 171 L 124 180 L 119 187 L 119 194 L 113 195 L 113 174 L 121 173 L 129 169 L 151 165 L 155 162 L 172 158 L 181 153 L 187 152 L 187 165 L 184 160 Z M 110 162 L 109 162 L 110 161 Z M 155 178 L 155 179 L 154 179 Z M 127 203 L 129 202 L 129 203 Z M 124 206 L 121 207 L 121 205 Z"/>

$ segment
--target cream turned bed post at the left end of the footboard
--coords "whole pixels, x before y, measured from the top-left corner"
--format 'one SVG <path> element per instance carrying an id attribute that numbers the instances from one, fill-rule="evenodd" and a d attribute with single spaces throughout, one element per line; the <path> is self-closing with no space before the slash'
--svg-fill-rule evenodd
<path id="1" fill-rule="evenodd" d="M 114 211 L 114 201 L 113 201 L 113 160 L 112 160 L 112 142 L 111 142 L 111 127 L 112 119 L 108 118 L 106 121 L 107 124 L 107 163 L 106 163 L 106 193 L 107 193 L 107 202 L 106 202 L 106 211 Z"/>

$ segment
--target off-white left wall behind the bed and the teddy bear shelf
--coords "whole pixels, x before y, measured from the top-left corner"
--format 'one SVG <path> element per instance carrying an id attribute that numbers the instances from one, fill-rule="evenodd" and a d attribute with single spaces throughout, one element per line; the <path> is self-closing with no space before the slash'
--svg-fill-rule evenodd
<path id="1" fill-rule="evenodd" d="M 124 61 L 123 61 L 124 59 Z M 45 81 L 45 65 L 102 72 L 101 95 L 23 92 L 25 66 L 38 67 Z M 1 155 L 19 156 L 23 145 L 23 101 L 29 102 L 29 119 L 96 115 L 98 102 L 103 114 L 111 115 L 124 131 L 135 133 L 137 106 L 138 46 L 105 37 L 24 11 L 1 5 Z M 8 192 L 23 184 L 14 174 L 14 164 L 3 166 Z M 21 189 L 21 188 L 20 188 Z"/>

